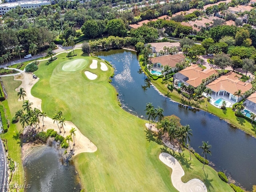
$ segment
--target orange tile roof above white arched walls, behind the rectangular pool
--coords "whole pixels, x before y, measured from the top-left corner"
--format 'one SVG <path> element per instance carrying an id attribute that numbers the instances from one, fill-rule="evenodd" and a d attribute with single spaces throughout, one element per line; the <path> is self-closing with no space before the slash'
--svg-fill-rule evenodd
<path id="1" fill-rule="evenodd" d="M 238 79 L 240 77 L 241 75 L 230 71 L 226 75 L 221 76 L 213 82 L 209 83 L 206 85 L 206 87 L 215 92 L 225 90 L 230 94 L 234 94 L 236 91 L 241 90 L 242 93 L 244 93 L 252 88 L 252 84 L 240 81 Z"/>

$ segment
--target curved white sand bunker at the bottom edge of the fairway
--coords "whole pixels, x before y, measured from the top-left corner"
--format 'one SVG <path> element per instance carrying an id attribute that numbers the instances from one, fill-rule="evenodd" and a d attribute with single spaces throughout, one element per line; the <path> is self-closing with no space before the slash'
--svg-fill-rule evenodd
<path id="1" fill-rule="evenodd" d="M 172 168 L 171 180 L 173 186 L 180 192 L 207 192 L 205 184 L 199 179 L 191 179 L 187 183 L 181 181 L 184 170 L 180 163 L 168 153 L 161 153 L 159 159 Z"/>

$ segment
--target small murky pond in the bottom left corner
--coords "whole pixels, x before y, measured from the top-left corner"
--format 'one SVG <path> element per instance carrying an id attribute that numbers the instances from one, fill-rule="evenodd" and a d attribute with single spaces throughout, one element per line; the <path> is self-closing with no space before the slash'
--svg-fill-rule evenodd
<path id="1" fill-rule="evenodd" d="M 80 180 L 73 165 L 60 162 L 58 150 L 49 146 L 35 147 L 24 162 L 26 192 L 80 192 Z"/>

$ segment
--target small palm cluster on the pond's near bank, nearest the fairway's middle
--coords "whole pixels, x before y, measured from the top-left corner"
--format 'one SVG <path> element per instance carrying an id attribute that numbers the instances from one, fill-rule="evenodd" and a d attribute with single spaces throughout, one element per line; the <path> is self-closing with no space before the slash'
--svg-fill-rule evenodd
<path id="1" fill-rule="evenodd" d="M 164 110 L 162 108 L 160 108 L 159 106 L 158 106 L 158 108 L 154 108 L 152 103 L 147 103 L 146 104 L 145 111 L 146 111 L 146 115 L 148 116 L 150 127 L 151 127 L 151 122 L 155 122 L 156 118 L 159 122 L 164 117 L 164 115 L 163 115 Z"/>

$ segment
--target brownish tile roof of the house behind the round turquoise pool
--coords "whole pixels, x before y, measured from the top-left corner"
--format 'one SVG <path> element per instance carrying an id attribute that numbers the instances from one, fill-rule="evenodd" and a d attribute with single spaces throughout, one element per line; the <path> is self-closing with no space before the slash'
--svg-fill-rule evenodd
<path id="1" fill-rule="evenodd" d="M 160 63 L 162 64 L 162 66 L 168 65 L 170 67 L 176 67 L 176 64 L 178 62 L 184 61 L 185 58 L 186 56 L 184 56 L 183 54 L 164 55 L 160 57 L 150 58 L 150 62 L 153 64 Z"/>

